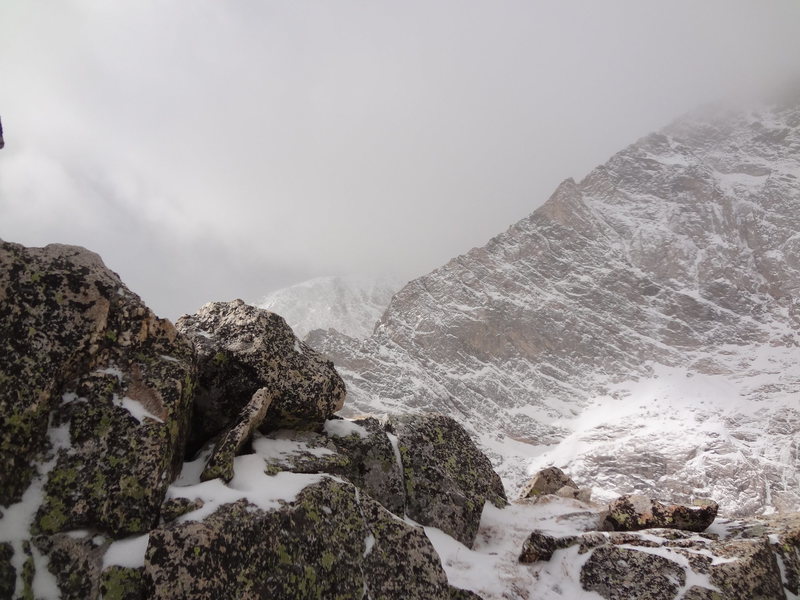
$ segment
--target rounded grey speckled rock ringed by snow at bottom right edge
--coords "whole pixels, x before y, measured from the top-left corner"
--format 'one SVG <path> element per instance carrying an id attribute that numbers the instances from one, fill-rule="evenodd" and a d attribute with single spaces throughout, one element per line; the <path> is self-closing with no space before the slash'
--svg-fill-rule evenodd
<path id="1" fill-rule="evenodd" d="M 638 550 L 595 549 L 581 569 L 581 585 L 607 600 L 674 600 L 686 583 L 677 563 Z"/>

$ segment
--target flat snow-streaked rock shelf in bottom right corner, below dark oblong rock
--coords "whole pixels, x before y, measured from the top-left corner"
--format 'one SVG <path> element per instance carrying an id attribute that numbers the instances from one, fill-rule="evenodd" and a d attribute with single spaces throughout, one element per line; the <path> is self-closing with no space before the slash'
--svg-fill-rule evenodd
<path id="1" fill-rule="evenodd" d="M 800 515 L 777 515 L 726 522 L 710 534 L 588 532 L 572 543 L 590 553 L 583 587 L 609 600 L 672 600 L 684 586 L 678 597 L 691 600 L 768 600 L 797 595 L 791 555 L 800 557 L 799 523 Z"/>

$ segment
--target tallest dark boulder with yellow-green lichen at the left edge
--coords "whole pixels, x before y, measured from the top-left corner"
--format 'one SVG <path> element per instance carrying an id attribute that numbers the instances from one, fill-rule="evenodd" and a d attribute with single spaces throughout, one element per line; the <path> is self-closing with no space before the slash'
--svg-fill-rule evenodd
<path id="1" fill-rule="evenodd" d="M 154 525 L 193 383 L 191 342 L 96 254 L 0 244 L 0 504 L 54 462 L 35 533 Z"/>

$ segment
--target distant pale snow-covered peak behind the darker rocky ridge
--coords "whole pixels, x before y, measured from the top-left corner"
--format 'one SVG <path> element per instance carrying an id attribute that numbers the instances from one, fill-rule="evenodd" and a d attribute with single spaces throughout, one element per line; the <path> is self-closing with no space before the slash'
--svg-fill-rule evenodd
<path id="1" fill-rule="evenodd" d="M 335 329 L 360 339 L 369 337 L 402 284 L 389 277 L 318 277 L 267 294 L 254 304 L 281 315 L 299 338 L 314 329 Z"/>

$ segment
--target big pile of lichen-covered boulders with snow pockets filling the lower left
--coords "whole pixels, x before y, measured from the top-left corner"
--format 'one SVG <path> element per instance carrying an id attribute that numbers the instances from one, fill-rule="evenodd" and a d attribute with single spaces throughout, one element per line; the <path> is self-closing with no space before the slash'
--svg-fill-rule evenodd
<path id="1" fill-rule="evenodd" d="M 452 421 L 393 424 L 396 451 L 332 418 L 342 380 L 277 315 L 208 305 L 190 338 L 86 250 L 0 259 L 0 598 L 473 597 L 401 518 L 409 481 L 436 525 L 446 498 L 504 502 Z"/>

